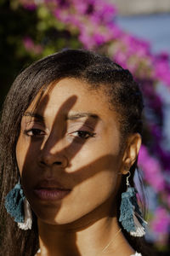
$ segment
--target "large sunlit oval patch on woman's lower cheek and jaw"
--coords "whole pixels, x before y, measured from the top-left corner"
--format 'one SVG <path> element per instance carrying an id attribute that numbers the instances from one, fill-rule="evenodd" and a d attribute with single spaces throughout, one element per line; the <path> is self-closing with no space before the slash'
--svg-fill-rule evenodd
<path id="1" fill-rule="evenodd" d="M 60 206 L 55 223 L 71 223 L 96 211 L 104 214 L 111 211 L 118 189 L 117 173 L 108 169 L 94 173 L 90 166 L 84 171 L 86 173 L 77 173 L 73 177 L 77 185 Z"/>

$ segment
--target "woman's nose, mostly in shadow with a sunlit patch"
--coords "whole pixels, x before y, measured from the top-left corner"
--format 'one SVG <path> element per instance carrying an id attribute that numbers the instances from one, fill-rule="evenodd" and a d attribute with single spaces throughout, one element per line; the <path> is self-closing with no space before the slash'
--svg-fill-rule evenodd
<path id="1" fill-rule="evenodd" d="M 42 166 L 59 166 L 65 168 L 68 166 L 68 159 L 65 155 L 64 146 L 61 146 L 62 143 L 58 142 L 55 145 L 51 145 L 47 141 L 41 150 L 39 155 L 39 163 Z"/>

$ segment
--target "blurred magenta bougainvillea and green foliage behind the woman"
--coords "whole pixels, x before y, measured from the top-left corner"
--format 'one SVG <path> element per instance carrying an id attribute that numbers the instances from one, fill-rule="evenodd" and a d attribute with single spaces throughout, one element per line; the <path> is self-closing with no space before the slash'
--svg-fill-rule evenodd
<path id="1" fill-rule="evenodd" d="M 147 240 L 157 255 L 170 255 L 170 152 L 157 90 L 170 89 L 169 55 L 152 54 L 150 44 L 116 24 L 116 15 L 105 0 L 1 0 L 0 105 L 23 68 L 60 49 L 92 49 L 128 68 L 144 93 L 139 169 L 149 198 Z"/>

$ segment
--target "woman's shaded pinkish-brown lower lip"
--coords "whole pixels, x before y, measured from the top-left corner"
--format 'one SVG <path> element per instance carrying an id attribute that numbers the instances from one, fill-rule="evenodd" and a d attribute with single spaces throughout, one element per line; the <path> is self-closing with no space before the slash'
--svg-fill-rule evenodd
<path id="1" fill-rule="evenodd" d="M 34 189 L 37 197 L 44 201 L 58 201 L 71 192 L 70 189 Z"/>

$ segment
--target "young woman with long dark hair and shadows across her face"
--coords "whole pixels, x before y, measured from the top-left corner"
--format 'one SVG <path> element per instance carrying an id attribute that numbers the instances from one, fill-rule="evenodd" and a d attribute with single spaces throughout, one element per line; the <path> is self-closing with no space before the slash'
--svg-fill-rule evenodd
<path id="1" fill-rule="evenodd" d="M 86 50 L 64 50 L 20 73 L 0 131 L 2 255 L 147 255 L 136 230 L 124 229 L 121 207 L 134 187 L 142 109 L 131 73 Z M 9 198 L 16 190 L 26 196 L 31 230 L 20 230 L 8 209 L 20 205 Z"/>

